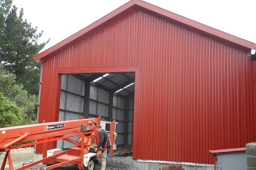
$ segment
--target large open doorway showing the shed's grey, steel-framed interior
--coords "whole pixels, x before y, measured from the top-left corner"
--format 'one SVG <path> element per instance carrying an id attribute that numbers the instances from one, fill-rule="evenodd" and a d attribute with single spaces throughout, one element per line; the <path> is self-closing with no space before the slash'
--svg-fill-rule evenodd
<path id="1" fill-rule="evenodd" d="M 59 121 L 116 120 L 117 147 L 132 147 L 135 72 L 62 74 Z M 75 138 L 73 140 L 76 140 Z M 73 144 L 60 140 L 57 148 Z"/>

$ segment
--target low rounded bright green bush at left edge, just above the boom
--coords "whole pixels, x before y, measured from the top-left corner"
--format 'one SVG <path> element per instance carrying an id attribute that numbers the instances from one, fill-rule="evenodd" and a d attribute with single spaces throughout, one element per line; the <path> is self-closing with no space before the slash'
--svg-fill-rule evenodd
<path id="1" fill-rule="evenodd" d="M 0 92 L 0 128 L 20 124 L 20 109 Z"/>

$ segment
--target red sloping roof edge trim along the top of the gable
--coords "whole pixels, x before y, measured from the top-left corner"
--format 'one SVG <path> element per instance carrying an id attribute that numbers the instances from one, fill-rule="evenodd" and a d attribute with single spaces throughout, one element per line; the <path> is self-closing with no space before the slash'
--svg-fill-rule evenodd
<path id="1" fill-rule="evenodd" d="M 124 4 L 123 6 L 117 8 L 115 11 L 109 13 L 108 15 L 104 16 L 103 18 L 95 21 L 94 23 L 90 24 L 89 26 L 85 27 L 84 29 L 76 32 L 74 35 L 62 40 L 60 43 L 46 49 L 44 52 L 36 55 L 34 57 L 35 61 L 38 60 L 46 60 L 47 58 L 61 52 L 61 50 L 67 48 L 68 46 L 76 43 L 77 41 L 85 38 L 86 36 L 90 35 L 95 30 L 98 30 L 108 23 L 116 20 L 117 18 L 125 15 L 133 11 L 134 9 L 146 10 L 147 12 L 154 13 L 158 16 L 162 16 L 165 19 L 172 20 L 174 22 L 178 22 L 182 25 L 186 25 L 187 27 L 194 28 L 205 33 L 209 33 L 212 36 L 218 37 L 222 40 L 229 41 L 230 43 L 256 50 L 256 44 L 244 40 L 242 38 L 235 37 L 230 35 L 229 33 L 222 32 L 220 30 L 214 29 L 202 23 L 190 20 L 185 18 L 181 15 L 172 13 L 170 11 L 164 10 L 163 8 L 157 7 L 155 5 L 143 2 L 141 0 L 131 0 L 130 2 Z"/>

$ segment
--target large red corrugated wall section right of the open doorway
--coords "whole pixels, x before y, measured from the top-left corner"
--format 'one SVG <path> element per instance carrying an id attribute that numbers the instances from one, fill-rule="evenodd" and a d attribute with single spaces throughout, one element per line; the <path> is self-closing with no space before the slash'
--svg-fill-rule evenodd
<path id="1" fill-rule="evenodd" d="M 141 46 L 147 49 L 141 57 L 138 143 L 147 144 L 137 157 L 213 163 L 210 149 L 255 140 L 250 86 L 256 63 L 248 51 L 153 15 L 141 13 L 141 21 Z"/>

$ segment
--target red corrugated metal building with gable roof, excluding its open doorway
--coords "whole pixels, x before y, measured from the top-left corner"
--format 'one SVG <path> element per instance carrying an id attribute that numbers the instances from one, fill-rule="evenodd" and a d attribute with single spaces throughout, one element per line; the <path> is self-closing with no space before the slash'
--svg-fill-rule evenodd
<path id="1" fill-rule="evenodd" d="M 35 56 L 42 62 L 38 123 L 58 121 L 62 74 L 132 72 L 133 158 L 213 164 L 209 150 L 256 141 L 251 49 L 254 43 L 130 1 Z"/>

